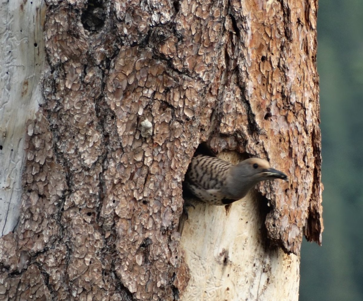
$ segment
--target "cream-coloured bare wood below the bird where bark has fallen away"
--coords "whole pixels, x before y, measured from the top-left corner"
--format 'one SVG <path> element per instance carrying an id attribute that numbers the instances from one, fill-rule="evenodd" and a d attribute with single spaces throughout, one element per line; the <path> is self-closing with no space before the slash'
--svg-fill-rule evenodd
<path id="1" fill-rule="evenodd" d="M 237 162 L 233 153 L 221 158 Z M 268 244 L 258 199 L 251 191 L 227 207 L 189 209 L 180 243 L 191 279 L 182 300 L 298 300 L 299 257 Z"/>

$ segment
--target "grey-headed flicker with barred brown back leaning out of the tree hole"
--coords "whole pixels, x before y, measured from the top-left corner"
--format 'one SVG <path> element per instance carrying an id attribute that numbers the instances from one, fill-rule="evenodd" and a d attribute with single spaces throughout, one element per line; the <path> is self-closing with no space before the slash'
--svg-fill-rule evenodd
<path id="1" fill-rule="evenodd" d="M 258 182 L 273 179 L 286 180 L 287 176 L 266 160 L 250 158 L 233 165 L 199 154 L 192 158 L 183 186 L 202 202 L 227 205 L 243 198 Z"/>

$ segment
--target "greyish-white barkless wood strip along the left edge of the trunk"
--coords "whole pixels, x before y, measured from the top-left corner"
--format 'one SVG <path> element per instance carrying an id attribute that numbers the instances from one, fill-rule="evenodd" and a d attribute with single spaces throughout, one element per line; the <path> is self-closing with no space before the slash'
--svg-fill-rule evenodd
<path id="1" fill-rule="evenodd" d="M 44 1 L 1 1 L 0 235 L 12 231 L 19 219 L 25 125 L 42 102 L 44 17 Z"/>

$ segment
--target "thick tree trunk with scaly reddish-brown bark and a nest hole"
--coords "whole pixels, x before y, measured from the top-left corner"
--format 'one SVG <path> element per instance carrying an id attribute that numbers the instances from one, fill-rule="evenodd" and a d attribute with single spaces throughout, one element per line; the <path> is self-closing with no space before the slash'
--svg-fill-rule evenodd
<path id="1" fill-rule="evenodd" d="M 36 7 L 37 30 L 40 3 L 20 5 Z M 321 243 L 323 229 L 316 1 L 46 3 L 49 69 L 32 77 L 44 70 L 44 100 L 21 94 L 40 108 L 12 125 L 17 174 L 28 137 L 3 298 L 298 300 L 302 237 Z M 201 142 L 234 163 L 266 158 L 289 182 L 180 219 Z"/>

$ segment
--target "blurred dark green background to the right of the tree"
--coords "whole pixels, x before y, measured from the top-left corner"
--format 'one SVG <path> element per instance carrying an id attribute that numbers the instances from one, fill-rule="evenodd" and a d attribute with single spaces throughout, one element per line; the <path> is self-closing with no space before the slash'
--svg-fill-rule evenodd
<path id="1" fill-rule="evenodd" d="M 303 243 L 299 301 L 363 300 L 363 0 L 319 0 L 322 247 Z"/>

